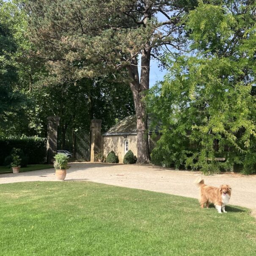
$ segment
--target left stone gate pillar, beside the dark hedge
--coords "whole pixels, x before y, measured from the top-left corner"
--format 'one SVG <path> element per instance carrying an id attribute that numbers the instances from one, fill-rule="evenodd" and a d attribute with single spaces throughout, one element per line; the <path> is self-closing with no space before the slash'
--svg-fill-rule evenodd
<path id="1" fill-rule="evenodd" d="M 49 116 L 47 125 L 47 163 L 53 163 L 57 153 L 57 133 L 60 124 L 60 117 Z"/>

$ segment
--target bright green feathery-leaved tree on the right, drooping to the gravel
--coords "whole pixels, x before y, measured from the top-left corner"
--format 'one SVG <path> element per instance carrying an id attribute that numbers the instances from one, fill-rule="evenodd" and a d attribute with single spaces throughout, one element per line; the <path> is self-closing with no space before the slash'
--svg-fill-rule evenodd
<path id="1" fill-rule="evenodd" d="M 148 95 L 149 111 L 162 122 L 152 152 L 158 164 L 256 172 L 255 4 L 222 4 L 200 3 L 190 12 L 186 27 L 196 52 L 167 55 L 171 68 Z"/>

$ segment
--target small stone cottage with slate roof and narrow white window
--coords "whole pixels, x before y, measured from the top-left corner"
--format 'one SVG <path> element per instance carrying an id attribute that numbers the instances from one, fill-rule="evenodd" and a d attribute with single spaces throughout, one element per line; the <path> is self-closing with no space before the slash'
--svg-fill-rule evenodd
<path id="1" fill-rule="evenodd" d="M 148 121 L 148 127 L 150 118 Z M 154 131 L 157 135 L 152 139 L 153 132 L 149 131 L 149 149 L 154 148 L 155 142 L 160 138 L 158 130 Z M 116 125 L 111 127 L 103 136 L 103 152 L 104 155 L 113 150 L 119 158 L 119 162 L 123 162 L 124 155 L 128 150 L 132 150 L 133 154 L 137 156 L 137 122 L 136 116 L 127 116 L 119 121 Z"/>

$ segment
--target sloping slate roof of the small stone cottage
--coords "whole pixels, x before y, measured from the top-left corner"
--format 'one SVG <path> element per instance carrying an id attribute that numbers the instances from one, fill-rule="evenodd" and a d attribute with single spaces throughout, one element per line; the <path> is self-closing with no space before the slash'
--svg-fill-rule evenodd
<path id="1" fill-rule="evenodd" d="M 148 118 L 148 127 L 150 124 L 150 118 Z M 158 133 L 158 127 L 154 133 Z M 152 133 L 149 131 L 149 133 Z M 136 115 L 131 115 L 125 117 L 123 120 L 119 121 L 113 127 L 111 127 L 103 136 L 108 135 L 137 135 L 137 121 Z"/>

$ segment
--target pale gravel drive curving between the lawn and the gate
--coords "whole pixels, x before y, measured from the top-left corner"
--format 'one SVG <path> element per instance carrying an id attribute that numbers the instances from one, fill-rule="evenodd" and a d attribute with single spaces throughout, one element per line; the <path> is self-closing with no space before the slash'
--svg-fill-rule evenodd
<path id="1" fill-rule="evenodd" d="M 85 180 L 120 187 L 182 195 L 198 198 L 198 188 L 194 181 L 199 172 L 174 171 L 153 165 L 121 165 L 106 163 L 71 163 L 65 180 Z M 30 181 L 55 181 L 54 169 L 0 174 L 0 184 Z M 216 174 L 204 176 L 206 184 L 232 187 L 230 204 L 252 209 L 256 216 L 256 175 Z M 199 207 L 199 205 L 198 205 Z"/>

